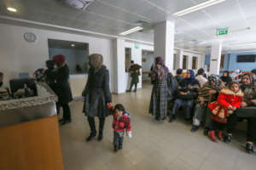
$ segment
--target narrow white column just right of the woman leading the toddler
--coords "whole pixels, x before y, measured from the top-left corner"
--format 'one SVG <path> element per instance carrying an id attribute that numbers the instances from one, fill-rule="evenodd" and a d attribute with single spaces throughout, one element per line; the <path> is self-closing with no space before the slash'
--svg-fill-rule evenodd
<path id="1" fill-rule="evenodd" d="M 125 93 L 125 40 L 113 40 L 113 93 Z"/>

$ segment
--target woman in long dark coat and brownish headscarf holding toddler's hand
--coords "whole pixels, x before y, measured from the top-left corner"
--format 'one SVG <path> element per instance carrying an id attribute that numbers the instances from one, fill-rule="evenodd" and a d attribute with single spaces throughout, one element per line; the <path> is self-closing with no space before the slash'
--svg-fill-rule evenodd
<path id="1" fill-rule="evenodd" d="M 96 126 L 94 117 L 99 117 L 100 127 L 98 140 L 103 138 L 103 128 L 105 117 L 109 116 L 108 105 L 112 105 L 112 97 L 109 89 L 109 72 L 105 65 L 102 65 L 101 54 L 91 54 L 89 56 L 90 70 L 88 81 L 84 88 L 84 113 L 90 125 L 90 136 L 86 139 L 90 141 L 96 136 Z"/>

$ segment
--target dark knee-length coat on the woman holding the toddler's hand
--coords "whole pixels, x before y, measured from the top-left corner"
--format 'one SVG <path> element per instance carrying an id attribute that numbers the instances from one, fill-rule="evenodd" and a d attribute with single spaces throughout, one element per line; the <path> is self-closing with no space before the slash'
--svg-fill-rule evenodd
<path id="1" fill-rule="evenodd" d="M 99 71 L 90 68 L 83 96 L 85 116 L 110 115 L 107 104 L 112 102 L 112 97 L 109 89 L 109 71 L 105 65 L 102 65 Z"/>

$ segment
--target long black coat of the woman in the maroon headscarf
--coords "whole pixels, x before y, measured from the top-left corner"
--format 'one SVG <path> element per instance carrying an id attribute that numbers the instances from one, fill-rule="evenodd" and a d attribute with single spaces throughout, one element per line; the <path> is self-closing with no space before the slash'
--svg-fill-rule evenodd
<path id="1" fill-rule="evenodd" d="M 55 93 L 58 96 L 58 102 L 68 104 L 73 100 L 69 80 L 69 68 L 67 65 L 61 66 L 55 73 Z"/>

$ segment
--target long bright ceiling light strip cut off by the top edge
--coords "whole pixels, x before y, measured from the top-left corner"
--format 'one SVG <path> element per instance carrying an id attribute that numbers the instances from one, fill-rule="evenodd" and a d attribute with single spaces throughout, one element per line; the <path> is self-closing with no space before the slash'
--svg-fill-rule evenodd
<path id="1" fill-rule="evenodd" d="M 193 7 L 190 8 L 185 8 L 181 11 L 178 11 L 177 13 L 174 13 L 174 16 L 183 16 L 184 14 L 189 14 L 189 13 L 193 13 L 197 10 L 200 10 L 202 8 L 207 8 L 210 7 L 212 5 L 218 4 L 218 3 L 223 3 L 225 0 L 209 0 L 205 3 L 199 3 Z"/>

